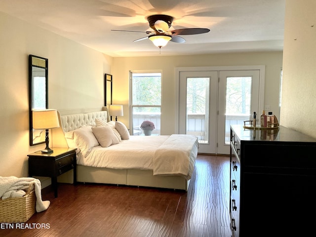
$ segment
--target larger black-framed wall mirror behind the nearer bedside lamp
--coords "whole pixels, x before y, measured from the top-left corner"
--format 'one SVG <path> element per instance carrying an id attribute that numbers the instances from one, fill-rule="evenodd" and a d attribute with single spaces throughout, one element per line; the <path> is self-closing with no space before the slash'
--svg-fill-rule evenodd
<path id="1" fill-rule="evenodd" d="M 29 55 L 30 146 L 45 142 L 45 129 L 33 129 L 33 110 L 48 109 L 48 59 Z"/>

